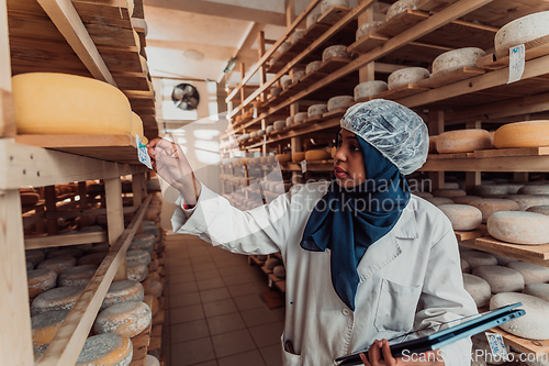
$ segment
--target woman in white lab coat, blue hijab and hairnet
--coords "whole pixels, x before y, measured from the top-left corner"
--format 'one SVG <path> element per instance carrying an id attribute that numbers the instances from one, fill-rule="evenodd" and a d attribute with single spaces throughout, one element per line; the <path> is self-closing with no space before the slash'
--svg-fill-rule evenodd
<path id="1" fill-rule="evenodd" d="M 155 169 L 181 192 L 173 232 L 234 253 L 282 254 L 285 366 L 334 365 L 368 346 L 365 365 L 470 364 L 469 339 L 426 362 L 394 359 L 385 341 L 477 312 L 450 222 L 411 195 L 404 178 L 428 149 L 427 129 L 413 111 L 379 99 L 351 107 L 332 182 L 294 186 L 244 212 L 199 184 L 180 148 L 161 140 L 148 147 Z"/>

